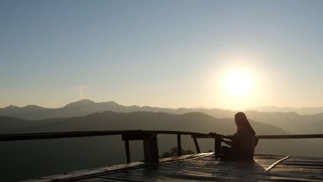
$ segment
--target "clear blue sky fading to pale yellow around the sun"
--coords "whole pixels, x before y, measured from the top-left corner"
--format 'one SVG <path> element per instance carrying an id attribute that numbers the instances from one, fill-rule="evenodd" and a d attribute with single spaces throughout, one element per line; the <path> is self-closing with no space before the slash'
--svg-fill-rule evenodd
<path id="1" fill-rule="evenodd" d="M 2 0 L 0 107 L 323 105 L 322 17 L 323 1 Z"/>

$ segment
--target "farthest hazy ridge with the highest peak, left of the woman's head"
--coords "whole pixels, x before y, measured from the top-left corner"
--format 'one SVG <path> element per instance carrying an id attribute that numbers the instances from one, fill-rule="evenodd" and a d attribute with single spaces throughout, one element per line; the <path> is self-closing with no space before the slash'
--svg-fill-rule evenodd
<path id="1" fill-rule="evenodd" d="M 37 106 L 39 107 L 39 106 Z M 214 112 L 219 118 L 232 117 L 234 112 L 230 110 L 220 110 L 220 109 L 170 109 L 170 108 L 155 108 L 150 106 L 139 107 L 137 105 L 124 106 L 115 103 L 115 101 L 95 103 L 88 99 L 76 101 L 69 103 L 62 108 L 41 108 L 38 109 L 30 108 L 27 106 L 19 108 L 17 106 L 10 105 L 6 108 L 0 109 L 0 116 L 17 117 L 20 119 L 50 119 L 58 117 L 81 117 L 87 114 L 92 114 L 95 112 L 104 111 L 114 111 L 114 112 L 137 112 L 137 111 L 148 111 L 148 112 L 167 112 L 171 114 L 185 114 L 188 112 L 206 112 L 210 110 Z"/>

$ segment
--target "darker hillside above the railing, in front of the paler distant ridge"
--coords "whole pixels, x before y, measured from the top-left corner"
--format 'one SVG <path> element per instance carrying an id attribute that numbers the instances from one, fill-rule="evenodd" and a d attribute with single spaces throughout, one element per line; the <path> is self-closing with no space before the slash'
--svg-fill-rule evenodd
<path id="1" fill-rule="evenodd" d="M 232 134 L 233 119 L 215 119 L 202 112 L 168 114 L 165 112 L 100 112 L 85 117 L 44 119 L 39 121 L 0 117 L 12 132 L 70 132 L 78 130 L 184 130 Z M 12 123 L 12 125 L 10 125 Z M 284 134 L 273 125 L 253 122 L 261 134 Z M 1 128 L 1 133 L 8 133 Z"/>

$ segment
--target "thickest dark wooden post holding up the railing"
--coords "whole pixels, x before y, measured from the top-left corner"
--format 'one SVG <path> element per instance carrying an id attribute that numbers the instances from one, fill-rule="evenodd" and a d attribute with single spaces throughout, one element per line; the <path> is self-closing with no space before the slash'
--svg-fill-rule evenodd
<path id="1" fill-rule="evenodd" d="M 144 161 L 145 163 L 158 163 L 157 133 L 148 132 L 144 134 Z"/>

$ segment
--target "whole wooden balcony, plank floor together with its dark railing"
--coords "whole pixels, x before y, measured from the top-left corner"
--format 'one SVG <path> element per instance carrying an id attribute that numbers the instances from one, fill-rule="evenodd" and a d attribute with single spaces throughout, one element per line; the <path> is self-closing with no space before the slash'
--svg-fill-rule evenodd
<path id="1" fill-rule="evenodd" d="M 104 136 L 121 134 L 125 143 L 128 163 L 105 168 L 66 172 L 54 176 L 30 179 L 25 182 L 104 182 L 104 181 L 323 181 L 323 159 L 295 156 L 255 155 L 254 162 L 224 161 L 215 159 L 221 139 L 230 136 L 179 131 L 88 131 L 37 134 L 0 135 L 0 141 L 58 139 L 70 137 Z M 159 159 L 158 134 L 176 134 L 181 149 L 181 135 L 188 134 L 195 141 L 197 154 Z M 311 139 L 323 134 L 262 135 L 260 139 Z M 197 139 L 213 139 L 215 153 L 200 153 Z M 130 163 L 129 141 L 142 140 L 144 161 Z M 113 156 L 110 156 L 113 157 Z"/>

